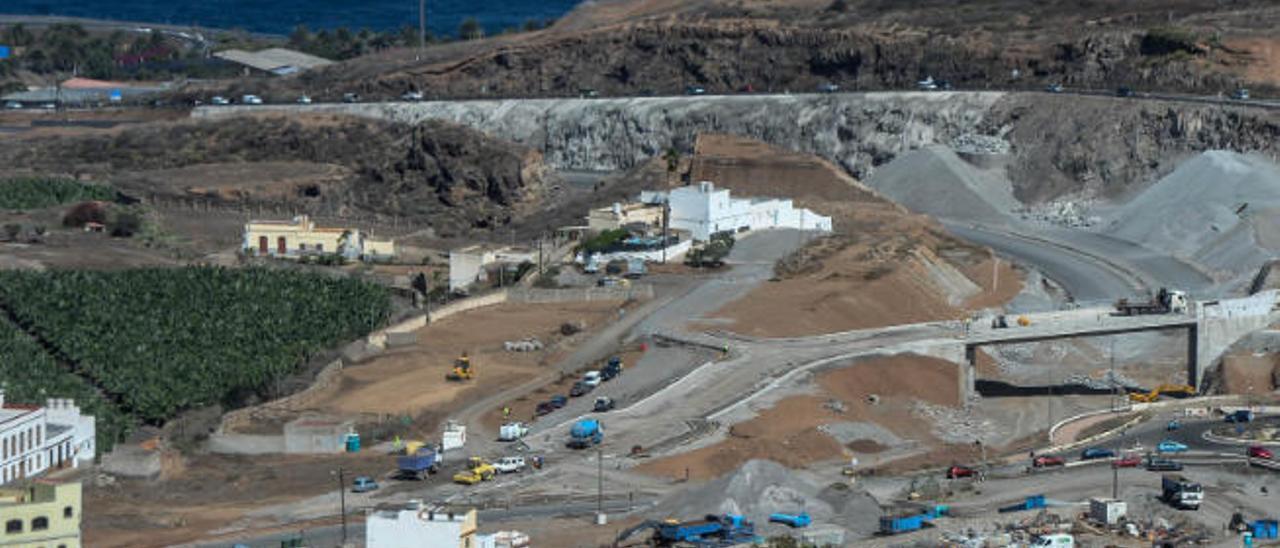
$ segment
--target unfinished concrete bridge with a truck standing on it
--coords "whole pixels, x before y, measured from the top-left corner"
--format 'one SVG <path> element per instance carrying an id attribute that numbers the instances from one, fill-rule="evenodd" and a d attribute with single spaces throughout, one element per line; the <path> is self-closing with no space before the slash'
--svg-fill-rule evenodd
<path id="1" fill-rule="evenodd" d="M 966 324 L 954 343 L 943 343 L 936 355 L 968 365 L 961 393 L 973 393 L 975 359 L 984 346 L 1018 344 L 1076 337 L 1105 337 L 1125 333 L 1185 330 L 1187 384 L 1199 387 L 1204 369 L 1236 341 L 1280 321 L 1280 291 L 1249 297 L 1194 301 L 1185 314 L 1116 316 L 1115 310 L 1078 309 L 1010 318 L 1007 328 L 992 328 L 989 321 Z M 1019 325 L 1025 318 L 1027 325 Z M 960 356 L 963 355 L 963 361 Z"/>

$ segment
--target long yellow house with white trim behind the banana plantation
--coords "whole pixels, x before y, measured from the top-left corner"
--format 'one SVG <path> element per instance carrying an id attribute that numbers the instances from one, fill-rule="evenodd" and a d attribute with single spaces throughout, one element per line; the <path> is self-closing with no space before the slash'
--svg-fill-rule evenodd
<path id="1" fill-rule="evenodd" d="M 390 259 L 396 242 L 371 239 L 356 228 L 316 227 L 307 215 L 293 220 L 251 220 L 244 224 L 246 254 L 282 259 L 305 255 L 342 255 L 348 260 Z"/>

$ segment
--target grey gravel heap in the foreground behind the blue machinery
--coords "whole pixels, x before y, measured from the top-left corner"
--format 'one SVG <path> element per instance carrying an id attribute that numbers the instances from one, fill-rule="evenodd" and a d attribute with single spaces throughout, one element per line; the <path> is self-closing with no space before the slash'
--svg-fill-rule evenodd
<path id="1" fill-rule="evenodd" d="M 655 516 L 659 519 L 744 515 L 765 535 L 790 531 L 785 525 L 768 522 L 774 512 L 808 512 L 815 525 L 838 525 L 855 536 L 873 534 L 881 515 L 879 504 L 861 489 L 845 484 L 819 487 L 803 472 L 762 460 L 748 461 L 732 474 L 677 492 L 658 507 L 664 512 Z"/>

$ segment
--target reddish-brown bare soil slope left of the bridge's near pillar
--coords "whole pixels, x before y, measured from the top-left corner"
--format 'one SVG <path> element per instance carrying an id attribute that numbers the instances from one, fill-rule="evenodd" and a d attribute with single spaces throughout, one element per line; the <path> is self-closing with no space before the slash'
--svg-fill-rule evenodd
<path id="1" fill-rule="evenodd" d="M 732 471 L 753 458 L 787 467 L 844 461 L 852 455 L 874 456 L 883 440 L 859 438 L 845 446 L 819 426 L 870 423 L 924 449 L 941 443 L 929 423 L 914 412 L 916 401 L 954 407 L 960 403 L 955 364 L 923 356 L 895 356 L 860 361 L 818 375 L 815 393 L 791 396 L 763 410 L 755 419 L 733 425 L 728 439 L 701 449 L 658 458 L 636 470 L 669 478 L 700 480 Z M 837 465 L 832 463 L 832 470 Z"/>

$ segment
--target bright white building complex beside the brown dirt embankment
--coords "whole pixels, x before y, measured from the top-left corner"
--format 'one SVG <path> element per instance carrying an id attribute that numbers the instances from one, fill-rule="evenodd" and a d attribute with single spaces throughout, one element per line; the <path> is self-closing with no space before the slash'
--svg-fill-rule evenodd
<path id="1" fill-rule="evenodd" d="M 717 232 L 745 232 L 767 228 L 797 228 L 831 232 L 831 218 L 796 209 L 786 198 L 733 198 L 727 188 L 717 189 L 709 181 L 669 192 L 645 191 L 645 204 L 671 205 L 671 228 L 689 230 L 694 239 L 708 241 Z"/>

